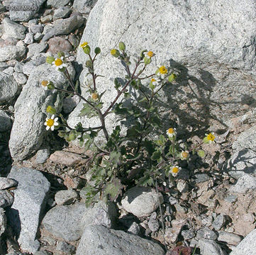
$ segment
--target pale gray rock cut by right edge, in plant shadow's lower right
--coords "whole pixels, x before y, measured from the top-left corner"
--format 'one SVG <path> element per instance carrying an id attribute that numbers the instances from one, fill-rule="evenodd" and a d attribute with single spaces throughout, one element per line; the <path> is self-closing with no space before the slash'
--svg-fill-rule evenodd
<path id="1" fill-rule="evenodd" d="M 229 191 L 233 193 L 246 193 L 249 189 L 256 189 L 256 178 L 250 174 L 244 174 L 234 186 L 230 187 Z"/>

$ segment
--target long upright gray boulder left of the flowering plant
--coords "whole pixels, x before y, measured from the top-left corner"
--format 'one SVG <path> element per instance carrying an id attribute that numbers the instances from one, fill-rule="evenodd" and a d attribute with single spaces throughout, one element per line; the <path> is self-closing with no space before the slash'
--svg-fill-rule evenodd
<path id="1" fill-rule="evenodd" d="M 72 70 L 69 69 L 70 72 Z M 73 75 L 72 71 L 72 77 Z M 9 141 L 11 157 L 14 159 L 25 159 L 30 153 L 36 152 L 45 137 L 45 109 L 48 105 L 53 106 L 57 93 L 45 91 L 41 85 L 43 79 L 52 81 L 59 87 L 67 84 L 62 72 L 56 71 L 50 64 L 41 64 L 33 69 L 14 107 L 15 118 Z M 62 98 L 59 99 L 57 107 L 62 103 Z"/>

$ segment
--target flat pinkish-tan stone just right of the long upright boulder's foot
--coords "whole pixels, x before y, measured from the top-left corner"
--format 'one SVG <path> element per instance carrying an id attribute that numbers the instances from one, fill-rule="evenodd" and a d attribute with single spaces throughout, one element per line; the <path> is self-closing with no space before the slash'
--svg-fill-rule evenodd
<path id="1" fill-rule="evenodd" d="M 72 152 L 56 151 L 50 155 L 50 160 L 57 164 L 72 166 L 73 164 L 80 162 L 82 157 Z"/>

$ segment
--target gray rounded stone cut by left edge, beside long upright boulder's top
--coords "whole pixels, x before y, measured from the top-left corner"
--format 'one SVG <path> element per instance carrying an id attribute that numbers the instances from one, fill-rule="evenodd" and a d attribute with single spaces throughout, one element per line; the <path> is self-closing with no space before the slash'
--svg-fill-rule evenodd
<path id="1" fill-rule="evenodd" d="M 7 74 L 0 73 L 0 105 L 11 101 L 18 94 L 18 84 Z"/>

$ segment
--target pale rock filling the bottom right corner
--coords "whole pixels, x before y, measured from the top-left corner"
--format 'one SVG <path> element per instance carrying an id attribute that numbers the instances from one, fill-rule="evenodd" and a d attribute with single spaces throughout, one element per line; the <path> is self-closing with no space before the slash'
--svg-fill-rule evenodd
<path id="1" fill-rule="evenodd" d="M 256 229 L 247 234 L 243 241 L 231 251 L 230 255 L 255 254 L 255 239 Z"/>

